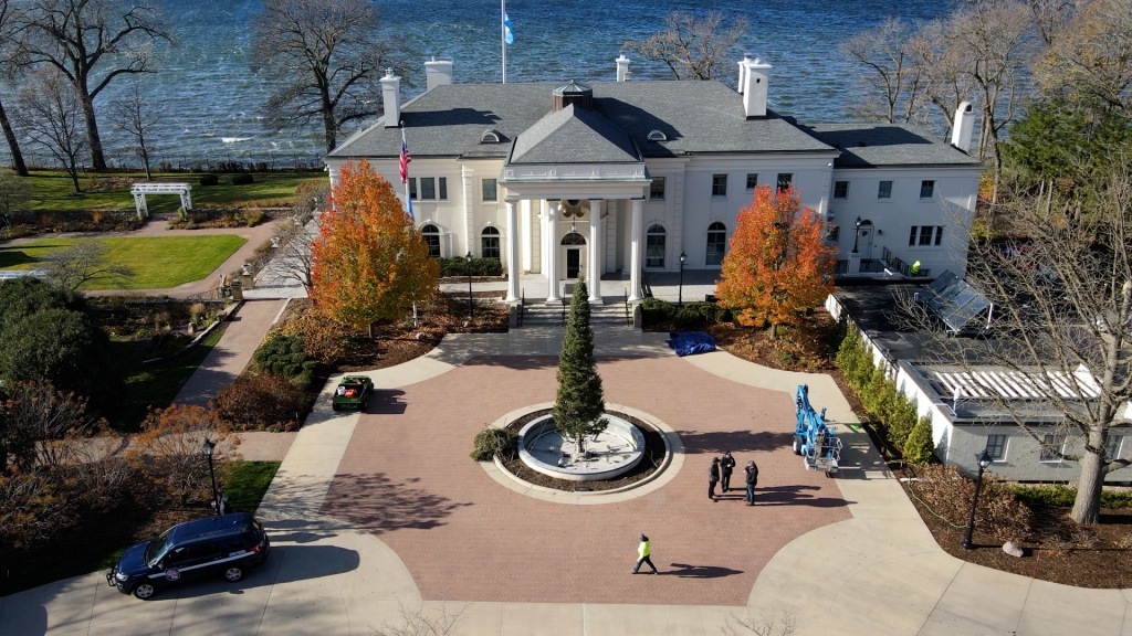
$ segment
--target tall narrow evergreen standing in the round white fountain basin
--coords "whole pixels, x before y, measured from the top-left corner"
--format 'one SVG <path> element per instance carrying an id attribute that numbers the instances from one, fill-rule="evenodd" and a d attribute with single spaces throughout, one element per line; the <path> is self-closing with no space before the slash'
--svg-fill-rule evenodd
<path id="1" fill-rule="evenodd" d="M 558 430 L 577 444 L 578 457 L 585 457 L 585 436 L 599 435 L 608 423 L 601 416 L 606 412 L 606 401 L 598 363 L 593 359 L 589 298 L 585 281 L 578 276 L 558 358 L 558 395 L 554 412 Z"/>

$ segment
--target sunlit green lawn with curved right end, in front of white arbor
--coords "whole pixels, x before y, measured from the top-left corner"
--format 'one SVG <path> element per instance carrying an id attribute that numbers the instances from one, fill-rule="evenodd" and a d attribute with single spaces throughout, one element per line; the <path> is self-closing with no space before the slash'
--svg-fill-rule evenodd
<path id="1" fill-rule="evenodd" d="M 92 281 L 85 290 L 161 290 L 199 281 L 212 274 L 247 239 L 234 234 L 199 237 L 111 237 L 95 239 L 106 246 L 106 258 L 125 265 L 134 276 Z M 0 269 L 33 269 L 50 252 L 74 244 L 75 239 L 41 239 L 0 249 Z"/>

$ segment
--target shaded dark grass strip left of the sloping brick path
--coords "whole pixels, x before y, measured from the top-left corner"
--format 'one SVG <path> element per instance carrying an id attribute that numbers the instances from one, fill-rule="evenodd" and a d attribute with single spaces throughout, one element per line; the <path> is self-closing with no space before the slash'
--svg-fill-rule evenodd
<path id="1" fill-rule="evenodd" d="M 149 407 L 165 409 L 173 403 L 185 383 L 197 370 L 212 352 L 224 328 L 213 332 L 195 349 L 178 355 L 172 360 L 143 367 L 135 352 L 129 352 L 132 361 L 126 375 L 127 399 L 121 411 L 114 418 L 113 427 L 123 432 L 137 432 L 145 421 Z M 114 343 L 114 346 L 127 347 L 131 343 Z M 125 356 L 125 354 L 123 354 Z"/>

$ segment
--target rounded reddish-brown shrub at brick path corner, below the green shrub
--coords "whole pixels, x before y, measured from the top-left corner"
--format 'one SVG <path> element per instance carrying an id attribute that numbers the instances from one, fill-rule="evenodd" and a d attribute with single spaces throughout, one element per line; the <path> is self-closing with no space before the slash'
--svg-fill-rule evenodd
<path id="1" fill-rule="evenodd" d="M 243 430 L 294 430 L 306 402 L 294 383 L 272 372 L 238 378 L 216 394 L 221 418 Z"/>

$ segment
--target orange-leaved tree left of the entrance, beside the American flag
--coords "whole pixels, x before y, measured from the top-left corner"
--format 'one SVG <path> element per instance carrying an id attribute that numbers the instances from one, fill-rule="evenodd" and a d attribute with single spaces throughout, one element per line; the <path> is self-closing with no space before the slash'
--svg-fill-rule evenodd
<path id="1" fill-rule="evenodd" d="M 369 162 L 342 169 L 331 206 L 310 243 L 311 298 L 332 319 L 354 328 L 405 315 L 437 290 L 440 267 L 393 188 Z"/>

